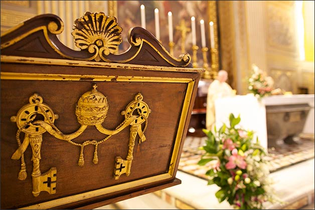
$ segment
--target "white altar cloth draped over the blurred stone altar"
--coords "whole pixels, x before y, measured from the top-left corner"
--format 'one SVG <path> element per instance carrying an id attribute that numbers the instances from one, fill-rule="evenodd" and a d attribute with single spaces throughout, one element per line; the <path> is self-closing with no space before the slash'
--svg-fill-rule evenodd
<path id="1" fill-rule="evenodd" d="M 240 114 L 239 126 L 254 131 L 255 139 L 258 137 L 261 146 L 267 148 L 266 106 L 304 103 L 307 103 L 311 109 L 302 132 L 314 134 L 313 94 L 268 96 L 261 100 L 253 94 L 219 98 L 215 101 L 216 127 L 221 127 L 223 123 L 229 125 L 230 113 L 233 113 L 235 117 Z"/>

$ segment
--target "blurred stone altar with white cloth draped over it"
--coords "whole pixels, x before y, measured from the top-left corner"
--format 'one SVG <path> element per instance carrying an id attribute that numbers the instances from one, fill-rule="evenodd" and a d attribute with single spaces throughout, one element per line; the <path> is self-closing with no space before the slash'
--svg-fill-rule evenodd
<path id="1" fill-rule="evenodd" d="M 240 115 L 239 125 L 254 131 L 254 139 L 258 137 L 264 148 L 299 133 L 314 134 L 313 94 L 276 95 L 261 100 L 252 94 L 220 98 L 215 101 L 215 113 L 216 127 L 227 124 L 230 113 Z"/>

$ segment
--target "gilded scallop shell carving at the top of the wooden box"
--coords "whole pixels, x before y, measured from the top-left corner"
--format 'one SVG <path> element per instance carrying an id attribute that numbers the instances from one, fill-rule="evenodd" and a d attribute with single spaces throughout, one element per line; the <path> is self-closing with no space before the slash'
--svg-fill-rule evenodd
<path id="1" fill-rule="evenodd" d="M 86 12 L 75 21 L 71 34 L 75 45 L 81 50 L 88 49 L 90 53 L 95 53 L 96 50 L 97 54 L 109 55 L 118 51 L 122 42 L 121 32 L 122 28 L 118 26 L 115 17 Z"/>

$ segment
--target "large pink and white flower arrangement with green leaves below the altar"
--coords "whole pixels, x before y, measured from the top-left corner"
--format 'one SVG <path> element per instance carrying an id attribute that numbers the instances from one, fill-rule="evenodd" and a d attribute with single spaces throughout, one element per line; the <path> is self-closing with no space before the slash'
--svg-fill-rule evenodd
<path id="1" fill-rule="evenodd" d="M 265 201 L 279 201 L 272 193 L 266 153 L 258 138 L 253 142 L 253 132 L 236 128 L 240 122 L 229 116 L 230 127 L 223 124 L 217 131 L 204 129 L 208 139 L 201 147 L 205 154 L 199 165 L 209 166 L 208 184 L 216 184 L 219 202 L 227 200 L 235 209 L 262 209 Z"/>

